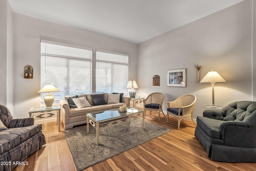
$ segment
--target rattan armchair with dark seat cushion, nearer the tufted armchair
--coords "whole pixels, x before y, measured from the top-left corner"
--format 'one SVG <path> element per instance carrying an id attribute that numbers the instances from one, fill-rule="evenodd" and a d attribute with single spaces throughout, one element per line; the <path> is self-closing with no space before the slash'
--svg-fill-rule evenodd
<path id="1" fill-rule="evenodd" d="M 178 97 L 174 101 L 166 102 L 167 108 L 167 123 L 169 115 L 172 115 L 178 119 L 178 130 L 180 130 L 180 120 L 193 119 L 194 108 L 196 105 L 196 96 L 194 94 L 185 94 Z"/>

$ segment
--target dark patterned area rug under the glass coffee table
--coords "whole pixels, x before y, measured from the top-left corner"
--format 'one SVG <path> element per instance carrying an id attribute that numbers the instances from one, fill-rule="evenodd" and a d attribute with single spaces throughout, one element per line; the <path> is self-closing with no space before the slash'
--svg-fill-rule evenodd
<path id="1" fill-rule="evenodd" d="M 145 121 L 145 128 L 142 128 L 141 118 L 119 122 L 117 125 L 100 126 L 99 145 L 96 145 L 96 129 L 92 125 L 89 133 L 86 133 L 86 125 L 64 131 L 78 171 L 170 131 L 149 121 Z"/>

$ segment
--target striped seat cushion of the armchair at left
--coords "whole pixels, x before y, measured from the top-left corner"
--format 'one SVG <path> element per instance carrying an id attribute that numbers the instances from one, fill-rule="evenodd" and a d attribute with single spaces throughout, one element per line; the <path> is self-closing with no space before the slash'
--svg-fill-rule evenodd
<path id="1" fill-rule="evenodd" d="M 0 154 L 12 147 L 22 143 L 42 130 L 42 124 L 35 124 L 28 127 L 10 128 L 0 131 Z"/>

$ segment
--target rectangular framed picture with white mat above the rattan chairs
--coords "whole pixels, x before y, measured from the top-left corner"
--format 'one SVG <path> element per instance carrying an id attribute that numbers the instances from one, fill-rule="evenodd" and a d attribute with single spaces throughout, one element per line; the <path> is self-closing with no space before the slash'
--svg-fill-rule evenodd
<path id="1" fill-rule="evenodd" d="M 168 87 L 186 87 L 186 68 L 167 70 Z"/>

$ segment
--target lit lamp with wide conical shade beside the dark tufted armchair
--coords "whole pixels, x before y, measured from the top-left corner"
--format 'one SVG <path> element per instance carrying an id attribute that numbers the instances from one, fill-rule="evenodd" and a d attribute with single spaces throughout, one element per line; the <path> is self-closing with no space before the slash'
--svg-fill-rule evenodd
<path id="1" fill-rule="evenodd" d="M 206 74 L 206 76 L 204 76 L 204 78 L 200 81 L 200 83 L 211 83 L 212 84 L 212 105 L 211 107 L 216 108 L 216 105 L 214 104 L 214 83 L 218 83 L 218 82 L 226 82 L 226 80 L 224 80 L 222 78 L 222 76 L 220 76 L 220 74 L 218 74 L 218 72 L 211 70 L 210 72 L 208 72 Z"/>

